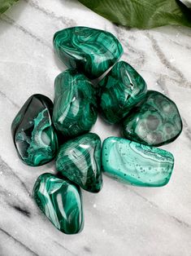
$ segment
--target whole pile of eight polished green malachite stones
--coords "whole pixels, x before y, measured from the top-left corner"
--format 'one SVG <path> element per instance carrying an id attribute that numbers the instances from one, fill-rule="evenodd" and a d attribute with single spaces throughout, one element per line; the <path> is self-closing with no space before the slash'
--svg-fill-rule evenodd
<path id="1" fill-rule="evenodd" d="M 111 33 L 63 29 L 54 34 L 54 51 L 69 68 L 55 78 L 54 104 L 45 95 L 32 95 L 12 122 L 11 132 L 28 166 L 55 158 L 57 174 L 41 174 L 33 197 L 55 227 L 75 234 L 84 226 L 80 188 L 99 192 L 102 172 L 137 186 L 168 183 L 174 157 L 154 146 L 176 139 L 182 121 L 171 99 L 147 90 L 131 65 L 117 62 L 123 47 Z M 94 85 L 92 80 L 103 74 Z M 109 137 L 102 143 L 89 133 L 98 111 L 111 125 L 121 126 L 123 138 Z"/>

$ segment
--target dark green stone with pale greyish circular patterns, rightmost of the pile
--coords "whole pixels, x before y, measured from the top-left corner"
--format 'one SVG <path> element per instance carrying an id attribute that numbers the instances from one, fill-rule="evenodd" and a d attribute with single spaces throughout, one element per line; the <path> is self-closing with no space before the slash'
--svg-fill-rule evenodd
<path id="1" fill-rule="evenodd" d="M 125 138 L 160 146 L 175 140 L 182 121 L 176 104 L 158 91 L 148 90 L 144 102 L 124 118 Z"/>

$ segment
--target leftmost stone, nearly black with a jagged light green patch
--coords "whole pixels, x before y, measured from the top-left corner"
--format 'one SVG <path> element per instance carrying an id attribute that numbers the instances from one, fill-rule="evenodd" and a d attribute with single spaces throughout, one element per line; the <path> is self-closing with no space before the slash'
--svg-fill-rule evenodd
<path id="1" fill-rule="evenodd" d="M 15 148 L 28 166 L 41 166 L 55 157 L 58 139 L 51 120 L 52 108 L 45 95 L 32 95 L 12 122 Z"/>

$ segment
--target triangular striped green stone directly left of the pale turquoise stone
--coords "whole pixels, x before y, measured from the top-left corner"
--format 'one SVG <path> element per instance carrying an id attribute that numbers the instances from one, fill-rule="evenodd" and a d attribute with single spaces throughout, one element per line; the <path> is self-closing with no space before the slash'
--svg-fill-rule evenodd
<path id="1" fill-rule="evenodd" d="M 59 148 L 56 170 L 89 192 L 102 188 L 101 139 L 89 133 L 68 140 Z"/>

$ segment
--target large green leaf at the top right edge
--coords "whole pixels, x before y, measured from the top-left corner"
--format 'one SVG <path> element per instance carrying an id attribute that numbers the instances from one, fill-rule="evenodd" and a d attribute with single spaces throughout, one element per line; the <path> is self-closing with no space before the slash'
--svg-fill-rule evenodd
<path id="1" fill-rule="evenodd" d="M 151 29 L 167 24 L 191 27 L 191 11 L 179 0 L 79 0 L 115 24 Z"/>

